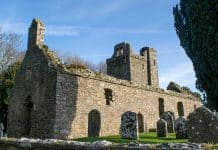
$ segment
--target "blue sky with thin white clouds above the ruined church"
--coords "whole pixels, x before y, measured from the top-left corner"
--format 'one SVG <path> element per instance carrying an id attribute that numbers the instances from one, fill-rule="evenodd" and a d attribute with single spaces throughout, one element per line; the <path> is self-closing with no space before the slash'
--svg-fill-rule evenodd
<path id="1" fill-rule="evenodd" d="M 192 63 L 173 25 L 178 0 L 0 0 L 0 26 L 22 35 L 33 18 L 46 26 L 45 43 L 59 56 L 77 55 L 98 63 L 111 57 L 113 46 L 129 42 L 135 53 L 143 46 L 158 53 L 160 86 L 169 81 L 195 89 Z"/>

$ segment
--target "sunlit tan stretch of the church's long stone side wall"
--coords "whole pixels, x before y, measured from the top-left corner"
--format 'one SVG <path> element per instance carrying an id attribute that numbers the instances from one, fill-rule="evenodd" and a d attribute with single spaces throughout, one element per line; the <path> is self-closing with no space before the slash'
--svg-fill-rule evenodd
<path id="1" fill-rule="evenodd" d="M 121 114 L 126 111 L 143 115 L 145 131 L 155 128 L 156 121 L 159 119 L 159 98 L 164 99 L 165 111 L 174 112 L 176 118 L 178 102 L 183 103 L 185 116 L 194 110 L 195 105 L 199 107 L 201 104 L 188 97 L 175 96 L 166 92 L 144 90 L 85 76 L 77 76 L 77 78 L 76 116 L 71 124 L 70 138 L 88 136 L 88 115 L 95 109 L 100 112 L 101 117 L 99 136 L 106 136 L 119 134 Z M 105 88 L 113 92 L 113 102 L 110 105 L 106 105 Z M 62 88 L 62 90 L 68 90 L 68 88 Z"/>

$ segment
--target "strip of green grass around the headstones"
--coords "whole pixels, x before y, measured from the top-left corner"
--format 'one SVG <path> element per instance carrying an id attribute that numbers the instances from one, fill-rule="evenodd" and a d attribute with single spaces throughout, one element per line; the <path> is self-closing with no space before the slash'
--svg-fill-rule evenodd
<path id="1" fill-rule="evenodd" d="M 168 133 L 167 138 L 158 138 L 156 132 L 147 132 L 140 133 L 138 140 L 127 140 L 122 139 L 119 135 L 113 136 L 104 136 L 104 137 L 87 137 L 87 138 L 78 138 L 74 139 L 76 141 L 81 142 L 94 142 L 99 140 L 107 140 L 114 143 L 129 143 L 129 142 L 140 142 L 140 143 L 185 143 L 187 139 L 176 139 L 176 135 L 174 133 Z"/>

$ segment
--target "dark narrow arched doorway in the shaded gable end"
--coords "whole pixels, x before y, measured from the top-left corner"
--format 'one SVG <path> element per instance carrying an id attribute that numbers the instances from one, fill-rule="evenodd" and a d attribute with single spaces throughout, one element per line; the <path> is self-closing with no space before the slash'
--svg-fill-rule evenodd
<path id="1" fill-rule="evenodd" d="M 29 137 L 31 132 L 31 114 L 33 103 L 31 96 L 27 96 L 24 101 L 24 133 L 23 136 Z"/>

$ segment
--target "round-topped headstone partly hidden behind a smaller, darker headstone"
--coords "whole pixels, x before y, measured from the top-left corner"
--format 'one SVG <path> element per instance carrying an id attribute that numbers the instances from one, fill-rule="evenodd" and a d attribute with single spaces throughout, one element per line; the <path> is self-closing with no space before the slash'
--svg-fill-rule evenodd
<path id="1" fill-rule="evenodd" d="M 175 117 L 172 112 L 164 112 L 161 117 L 161 119 L 165 120 L 167 122 L 167 130 L 169 133 L 174 133 L 174 125 L 175 125 Z"/>

